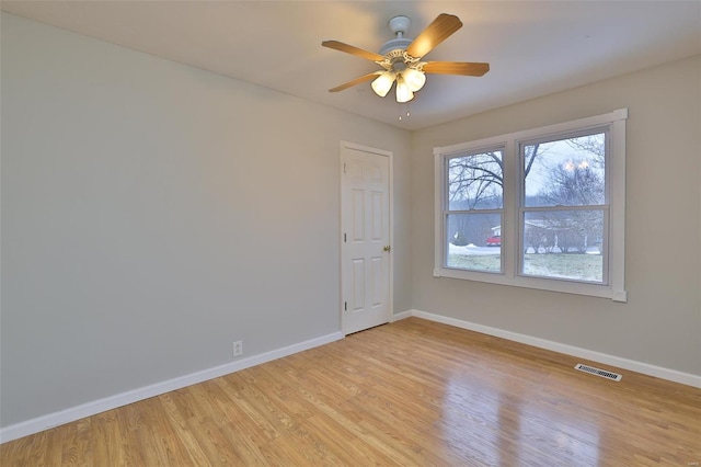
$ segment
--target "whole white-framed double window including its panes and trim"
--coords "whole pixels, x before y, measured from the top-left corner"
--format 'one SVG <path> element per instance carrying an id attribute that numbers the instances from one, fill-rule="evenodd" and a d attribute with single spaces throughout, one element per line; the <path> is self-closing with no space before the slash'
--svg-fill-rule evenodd
<path id="1" fill-rule="evenodd" d="M 434 275 L 625 301 L 627 117 L 435 148 Z"/>

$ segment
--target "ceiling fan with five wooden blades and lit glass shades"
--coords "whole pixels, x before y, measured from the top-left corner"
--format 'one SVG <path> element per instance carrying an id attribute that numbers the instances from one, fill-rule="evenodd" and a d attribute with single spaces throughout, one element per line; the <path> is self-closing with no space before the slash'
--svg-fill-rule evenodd
<path id="1" fill-rule="evenodd" d="M 364 50 L 338 41 L 324 41 L 322 46 L 345 52 L 356 57 L 375 61 L 382 70 L 361 76 L 352 81 L 332 88 L 329 92 L 338 92 L 365 81 L 372 81 L 372 90 L 384 98 L 397 81 L 397 102 L 409 102 L 414 93 L 426 82 L 425 73 L 462 75 L 481 77 L 490 70 L 490 64 L 464 61 L 422 61 L 422 58 L 452 33 L 462 27 L 460 19 L 452 14 L 441 13 L 415 39 L 404 37 L 411 20 L 406 16 L 394 16 L 389 21 L 389 29 L 395 38 L 380 47 L 379 53 Z"/>

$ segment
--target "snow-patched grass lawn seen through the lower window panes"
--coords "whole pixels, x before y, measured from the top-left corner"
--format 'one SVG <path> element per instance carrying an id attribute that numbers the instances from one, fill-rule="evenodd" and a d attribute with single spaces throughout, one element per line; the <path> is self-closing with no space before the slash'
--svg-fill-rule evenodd
<path id="1" fill-rule="evenodd" d="M 466 255 L 450 254 L 448 267 L 499 272 L 502 267 L 498 254 Z M 577 281 L 601 282 L 604 257 L 600 254 L 526 254 L 524 273 L 543 277 L 572 278 Z"/>

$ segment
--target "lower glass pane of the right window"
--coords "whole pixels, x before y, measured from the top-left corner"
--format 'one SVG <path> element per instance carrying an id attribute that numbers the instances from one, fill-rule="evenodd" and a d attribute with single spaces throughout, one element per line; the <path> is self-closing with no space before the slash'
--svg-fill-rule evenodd
<path id="1" fill-rule="evenodd" d="M 522 273 L 604 283 L 604 210 L 524 214 Z"/>

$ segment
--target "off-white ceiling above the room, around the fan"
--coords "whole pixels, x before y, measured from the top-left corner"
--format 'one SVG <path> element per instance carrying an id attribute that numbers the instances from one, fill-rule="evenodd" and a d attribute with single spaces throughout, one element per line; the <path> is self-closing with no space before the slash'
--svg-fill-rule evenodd
<path id="1" fill-rule="evenodd" d="M 2 10 L 406 129 L 701 54 L 699 1 L 51 0 Z M 410 16 L 415 37 L 444 12 L 463 26 L 426 60 L 487 61 L 485 76 L 428 75 L 410 104 L 369 82 L 327 91 L 379 67 L 322 41 L 377 52 L 392 38 L 390 18 Z"/>

